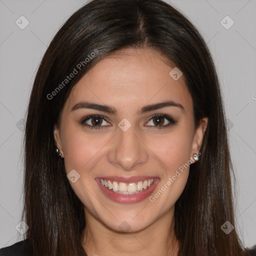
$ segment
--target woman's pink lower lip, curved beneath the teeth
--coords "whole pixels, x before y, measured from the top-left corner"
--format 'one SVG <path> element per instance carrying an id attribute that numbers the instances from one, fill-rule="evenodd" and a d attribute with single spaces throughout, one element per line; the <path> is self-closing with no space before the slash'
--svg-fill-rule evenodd
<path id="1" fill-rule="evenodd" d="M 156 187 L 157 183 L 159 182 L 159 178 L 155 178 L 154 183 L 145 189 L 142 192 L 136 194 L 119 194 L 115 193 L 113 190 L 110 190 L 101 184 L 100 178 L 95 179 L 98 183 L 102 192 L 112 201 L 119 202 L 119 203 L 135 203 L 144 200 L 148 197 L 154 188 Z"/>

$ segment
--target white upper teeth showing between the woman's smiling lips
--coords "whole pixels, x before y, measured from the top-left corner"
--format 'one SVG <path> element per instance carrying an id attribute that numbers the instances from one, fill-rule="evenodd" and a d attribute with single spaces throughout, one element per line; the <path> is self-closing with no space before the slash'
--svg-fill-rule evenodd
<path id="1" fill-rule="evenodd" d="M 102 185 L 107 187 L 108 189 L 113 190 L 116 193 L 120 194 L 134 194 L 139 193 L 143 189 L 147 189 L 149 186 L 151 186 L 154 182 L 154 179 L 146 179 L 144 181 L 138 181 L 137 184 L 135 182 L 132 183 L 124 183 L 116 181 L 110 181 L 106 179 L 100 179 L 100 182 Z"/>

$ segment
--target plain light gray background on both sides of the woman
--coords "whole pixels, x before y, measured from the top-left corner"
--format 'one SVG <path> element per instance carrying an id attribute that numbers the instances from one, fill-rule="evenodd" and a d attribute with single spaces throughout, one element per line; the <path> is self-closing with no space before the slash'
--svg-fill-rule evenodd
<path id="1" fill-rule="evenodd" d="M 59 26 L 85 2 L 0 0 L 0 247 L 22 239 L 15 229 L 22 208 L 22 118 L 36 69 Z M 169 2 L 198 28 L 215 61 L 237 179 L 232 224 L 251 246 L 256 243 L 256 0 Z M 15 23 L 21 15 L 29 21 L 24 29 Z M 229 29 L 221 24 L 226 15 L 234 21 Z"/>

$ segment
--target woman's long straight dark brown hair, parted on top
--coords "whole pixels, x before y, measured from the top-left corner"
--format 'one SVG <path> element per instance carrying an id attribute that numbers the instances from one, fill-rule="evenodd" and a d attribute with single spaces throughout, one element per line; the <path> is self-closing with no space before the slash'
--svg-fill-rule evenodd
<path id="1" fill-rule="evenodd" d="M 195 126 L 208 117 L 200 159 L 190 165 L 175 203 L 178 255 L 244 255 L 235 228 L 229 234 L 221 230 L 227 220 L 234 225 L 233 170 L 215 67 L 196 28 L 161 0 L 92 0 L 62 25 L 41 60 L 24 138 L 23 217 L 34 255 L 86 255 L 80 241 L 86 224 L 83 205 L 69 185 L 63 159 L 56 157 L 53 126 L 82 75 L 103 57 L 127 47 L 147 47 L 175 63 L 192 97 Z M 75 75 L 65 80 L 72 72 Z"/>

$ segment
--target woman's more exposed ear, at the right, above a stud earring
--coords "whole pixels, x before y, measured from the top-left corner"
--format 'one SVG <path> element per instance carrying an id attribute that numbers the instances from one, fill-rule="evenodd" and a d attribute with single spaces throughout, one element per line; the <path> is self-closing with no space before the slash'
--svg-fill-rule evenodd
<path id="1" fill-rule="evenodd" d="M 195 154 L 195 153 L 198 154 L 198 152 L 200 151 L 201 144 L 202 144 L 202 138 L 203 138 L 204 132 L 207 128 L 207 125 L 208 125 L 208 117 L 203 117 L 200 120 L 198 127 L 194 131 L 192 147 L 191 147 L 191 156 L 190 156 L 192 163 L 195 162 L 195 160 L 193 158 L 193 154 Z"/>

